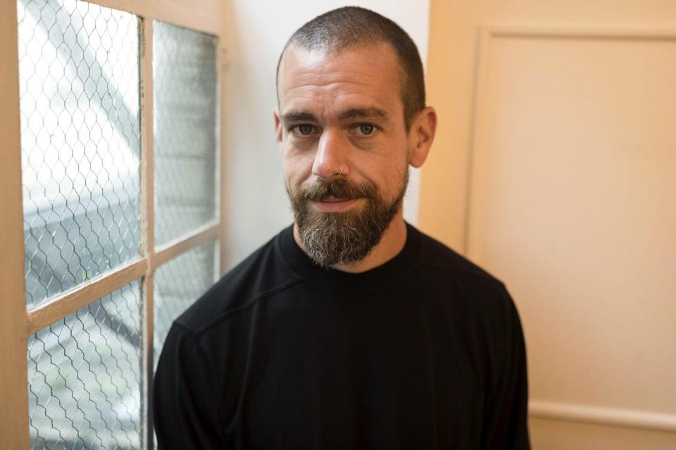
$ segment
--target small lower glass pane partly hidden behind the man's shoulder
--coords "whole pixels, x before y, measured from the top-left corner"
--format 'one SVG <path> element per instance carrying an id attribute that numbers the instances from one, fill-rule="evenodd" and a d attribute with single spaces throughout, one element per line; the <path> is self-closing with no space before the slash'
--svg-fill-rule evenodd
<path id="1" fill-rule="evenodd" d="M 215 249 L 215 243 L 200 245 L 155 271 L 155 365 L 171 323 L 213 285 Z"/>

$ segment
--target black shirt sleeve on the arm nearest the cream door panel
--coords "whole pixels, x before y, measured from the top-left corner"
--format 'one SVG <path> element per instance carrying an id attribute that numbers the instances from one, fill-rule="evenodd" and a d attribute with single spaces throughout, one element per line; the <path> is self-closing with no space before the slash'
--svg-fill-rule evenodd
<path id="1" fill-rule="evenodd" d="M 482 449 L 530 449 L 526 347 L 516 306 L 504 290 L 504 363 L 484 416 Z"/>

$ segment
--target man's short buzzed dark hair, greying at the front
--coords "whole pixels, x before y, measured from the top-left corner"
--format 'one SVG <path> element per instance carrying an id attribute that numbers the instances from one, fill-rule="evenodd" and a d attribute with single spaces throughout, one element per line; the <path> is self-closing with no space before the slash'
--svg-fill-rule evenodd
<path id="1" fill-rule="evenodd" d="M 390 44 L 399 59 L 401 72 L 400 96 L 406 131 L 413 116 L 425 108 L 425 76 L 418 47 L 408 34 L 392 20 L 358 6 L 346 6 L 318 15 L 300 27 L 289 38 L 277 61 L 277 84 L 284 51 L 292 44 L 307 50 L 340 53 L 358 46 Z"/>

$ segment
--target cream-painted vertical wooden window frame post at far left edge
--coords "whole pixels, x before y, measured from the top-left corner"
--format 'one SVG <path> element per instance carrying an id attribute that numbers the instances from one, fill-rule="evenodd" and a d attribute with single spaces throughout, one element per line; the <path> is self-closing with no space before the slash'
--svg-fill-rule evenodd
<path id="1" fill-rule="evenodd" d="M 0 436 L 27 449 L 28 324 L 24 280 L 18 33 L 15 1 L 0 2 Z"/>

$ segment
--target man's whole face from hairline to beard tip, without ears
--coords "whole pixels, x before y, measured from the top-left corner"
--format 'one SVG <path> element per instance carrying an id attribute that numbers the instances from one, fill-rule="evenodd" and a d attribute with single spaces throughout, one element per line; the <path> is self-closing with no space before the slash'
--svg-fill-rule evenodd
<path id="1" fill-rule="evenodd" d="M 323 266 L 363 259 L 401 214 L 411 144 L 400 86 L 389 44 L 284 53 L 277 141 L 299 236 Z"/>

